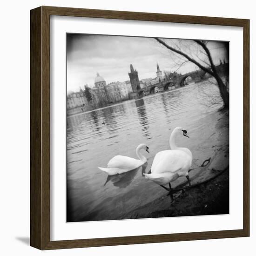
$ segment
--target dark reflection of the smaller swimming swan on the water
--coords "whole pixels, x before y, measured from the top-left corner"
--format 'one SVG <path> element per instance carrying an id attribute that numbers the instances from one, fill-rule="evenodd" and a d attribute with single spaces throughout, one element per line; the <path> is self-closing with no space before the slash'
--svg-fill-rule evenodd
<path id="1" fill-rule="evenodd" d="M 104 186 L 109 181 L 111 181 L 115 187 L 118 187 L 120 189 L 124 189 L 128 185 L 130 185 L 130 183 L 133 181 L 133 179 L 135 178 L 135 176 L 136 176 L 136 174 L 138 173 L 139 170 L 141 170 L 141 175 L 143 176 L 143 174 L 146 172 L 147 166 L 148 166 L 148 162 L 146 162 L 143 165 L 141 165 L 140 167 L 138 167 L 134 170 L 128 171 L 126 173 L 108 176 Z"/>

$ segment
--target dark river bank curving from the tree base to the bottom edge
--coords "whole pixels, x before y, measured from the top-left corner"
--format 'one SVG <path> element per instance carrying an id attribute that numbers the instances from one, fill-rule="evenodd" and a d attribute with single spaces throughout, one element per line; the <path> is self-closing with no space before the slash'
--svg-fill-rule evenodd
<path id="1" fill-rule="evenodd" d="M 229 112 L 220 111 L 214 116 L 219 116 L 216 145 L 212 146 L 215 155 L 206 166 L 191 170 L 191 188 L 188 182 L 182 182 L 173 187 L 181 188 L 173 192 L 173 199 L 165 191 L 120 219 L 229 214 Z"/>

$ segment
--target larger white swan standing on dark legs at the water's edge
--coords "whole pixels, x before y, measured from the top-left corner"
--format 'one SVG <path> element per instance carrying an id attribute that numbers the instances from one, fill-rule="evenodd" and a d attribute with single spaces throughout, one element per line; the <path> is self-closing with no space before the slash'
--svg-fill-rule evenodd
<path id="1" fill-rule="evenodd" d="M 190 185 L 188 172 L 192 164 L 192 153 L 189 148 L 179 148 L 176 146 L 175 137 L 180 132 L 183 133 L 183 136 L 189 138 L 186 129 L 176 127 L 169 139 L 171 150 L 158 152 L 151 166 L 151 174 L 144 174 L 147 179 L 152 180 L 170 192 L 170 182 L 175 181 L 180 176 L 186 176 Z M 163 186 L 166 184 L 169 185 L 169 189 Z"/>

